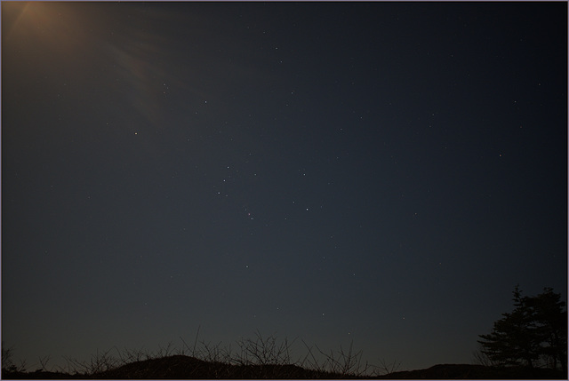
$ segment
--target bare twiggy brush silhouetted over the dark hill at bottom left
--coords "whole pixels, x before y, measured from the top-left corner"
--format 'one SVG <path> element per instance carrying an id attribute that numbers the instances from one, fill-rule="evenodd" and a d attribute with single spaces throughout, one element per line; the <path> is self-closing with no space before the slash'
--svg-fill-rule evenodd
<path id="1" fill-rule="evenodd" d="M 97 351 L 87 361 L 64 357 L 67 365 L 49 367 L 50 357 L 39 359 L 40 368 L 26 372 L 25 363 L 15 366 L 12 348 L 2 356 L 3 378 L 369 378 L 397 370 L 396 362 L 373 366 L 362 361 L 362 351 L 354 351 L 353 343 L 334 352 L 322 351 L 317 345 L 301 340 L 305 354 L 293 359 L 296 339 L 279 340 L 276 335 L 263 336 L 256 331 L 253 338 L 241 338 L 236 346 L 222 347 L 198 340 L 192 343 L 180 337 L 181 348 L 169 343 L 156 352 L 146 350 Z"/>

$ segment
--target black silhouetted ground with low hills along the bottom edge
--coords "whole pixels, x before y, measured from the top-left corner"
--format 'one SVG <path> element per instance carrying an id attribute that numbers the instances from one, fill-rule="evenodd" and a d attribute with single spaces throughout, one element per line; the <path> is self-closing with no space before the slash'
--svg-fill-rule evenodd
<path id="1" fill-rule="evenodd" d="M 4 379 L 307 379 L 363 378 L 302 369 L 296 365 L 228 365 L 175 355 L 136 361 L 117 369 L 83 375 L 60 372 L 4 372 Z M 493 368 L 483 365 L 440 364 L 429 369 L 394 372 L 374 379 L 567 379 L 553 369 Z"/>

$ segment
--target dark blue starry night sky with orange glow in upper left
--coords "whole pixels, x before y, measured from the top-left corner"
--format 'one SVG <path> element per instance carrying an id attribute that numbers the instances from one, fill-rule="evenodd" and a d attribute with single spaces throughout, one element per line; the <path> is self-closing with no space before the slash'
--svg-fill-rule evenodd
<path id="1" fill-rule="evenodd" d="M 197 329 L 471 363 L 518 283 L 566 300 L 566 3 L 3 2 L 2 85 L 31 370 Z"/>

